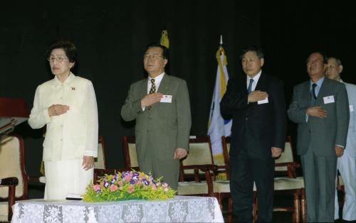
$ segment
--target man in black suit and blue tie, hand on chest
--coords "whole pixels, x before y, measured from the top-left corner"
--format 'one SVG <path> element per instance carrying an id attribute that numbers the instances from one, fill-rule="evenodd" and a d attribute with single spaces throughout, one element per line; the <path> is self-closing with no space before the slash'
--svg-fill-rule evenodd
<path id="1" fill-rule="evenodd" d="M 273 157 L 286 141 L 286 102 L 281 80 L 261 70 L 263 51 L 242 50 L 246 76 L 231 79 L 221 99 L 223 115 L 233 116 L 231 127 L 230 189 L 238 222 L 252 222 L 253 181 L 258 193 L 258 222 L 271 222 L 273 214 Z"/>

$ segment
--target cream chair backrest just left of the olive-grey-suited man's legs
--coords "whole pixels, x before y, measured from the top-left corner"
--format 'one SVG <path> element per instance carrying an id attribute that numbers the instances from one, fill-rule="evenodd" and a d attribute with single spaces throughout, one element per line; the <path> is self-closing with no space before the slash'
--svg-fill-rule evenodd
<path id="1" fill-rule="evenodd" d="M 122 148 L 125 156 L 125 168 L 140 170 L 137 161 L 135 136 L 122 137 Z"/>

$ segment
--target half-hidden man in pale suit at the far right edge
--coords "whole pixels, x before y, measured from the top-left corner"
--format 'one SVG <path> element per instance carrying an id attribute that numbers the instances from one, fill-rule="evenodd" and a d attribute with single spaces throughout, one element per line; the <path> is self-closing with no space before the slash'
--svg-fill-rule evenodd
<path id="1" fill-rule="evenodd" d="M 328 69 L 326 77 L 342 82 L 340 73 L 342 72 L 341 60 L 338 58 L 328 58 Z M 347 221 L 356 220 L 356 85 L 345 83 L 347 97 L 349 100 L 350 123 L 347 131 L 347 143 L 344 155 L 337 158 L 337 169 L 345 185 L 345 203 L 342 207 L 342 219 Z M 335 219 L 339 218 L 339 203 L 335 197 Z"/>

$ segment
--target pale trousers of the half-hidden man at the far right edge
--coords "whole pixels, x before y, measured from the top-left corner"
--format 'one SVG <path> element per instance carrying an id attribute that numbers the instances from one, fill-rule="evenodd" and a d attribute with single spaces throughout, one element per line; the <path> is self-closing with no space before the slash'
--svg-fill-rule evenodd
<path id="1" fill-rule="evenodd" d="M 356 220 L 356 159 L 344 153 L 337 158 L 337 169 L 345 186 L 345 203 L 342 207 L 342 219 Z M 339 203 L 335 192 L 335 219 L 339 218 Z"/>

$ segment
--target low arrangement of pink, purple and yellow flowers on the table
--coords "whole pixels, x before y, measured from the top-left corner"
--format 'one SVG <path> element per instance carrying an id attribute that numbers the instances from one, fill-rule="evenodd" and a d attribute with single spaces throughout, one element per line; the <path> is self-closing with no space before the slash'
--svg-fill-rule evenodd
<path id="1" fill-rule="evenodd" d="M 147 175 L 135 170 L 105 174 L 97 184 L 88 185 L 83 201 L 167 200 L 174 197 L 176 191 L 161 179 L 154 180 L 150 173 Z"/>

